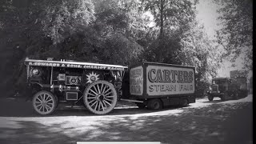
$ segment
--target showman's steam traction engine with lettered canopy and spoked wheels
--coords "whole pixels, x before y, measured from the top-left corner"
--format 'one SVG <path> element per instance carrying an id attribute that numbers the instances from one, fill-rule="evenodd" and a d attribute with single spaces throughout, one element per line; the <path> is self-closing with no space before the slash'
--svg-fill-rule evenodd
<path id="1" fill-rule="evenodd" d="M 127 66 L 26 58 L 34 110 L 51 114 L 58 102 L 82 103 L 91 113 L 107 114 L 122 95 Z"/>

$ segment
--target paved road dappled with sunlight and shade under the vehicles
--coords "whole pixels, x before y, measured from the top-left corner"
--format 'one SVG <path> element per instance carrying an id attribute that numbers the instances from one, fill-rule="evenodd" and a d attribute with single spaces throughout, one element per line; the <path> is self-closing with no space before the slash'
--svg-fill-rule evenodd
<path id="1" fill-rule="evenodd" d="M 76 143 L 129 141 L 162 143 L 252 143 L 252 95 L 183 108 L 139 110 L 118 105 L 103 116 L 86 110 L 34 114 L 30 102 L 0 99 L 0 143 Z"/>

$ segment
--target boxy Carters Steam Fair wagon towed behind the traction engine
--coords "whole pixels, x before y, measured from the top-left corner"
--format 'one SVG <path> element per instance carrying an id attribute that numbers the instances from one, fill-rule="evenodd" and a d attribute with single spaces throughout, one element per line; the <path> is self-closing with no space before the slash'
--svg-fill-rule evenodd
<path id="1" fill-rule="evenodd" d="M 130 69 L 130 97 L 139 108 L 187 106 L 195 102 L 194 67 L 143 62 Z M 122 99 L 125 100 L 125 99 Z"/>

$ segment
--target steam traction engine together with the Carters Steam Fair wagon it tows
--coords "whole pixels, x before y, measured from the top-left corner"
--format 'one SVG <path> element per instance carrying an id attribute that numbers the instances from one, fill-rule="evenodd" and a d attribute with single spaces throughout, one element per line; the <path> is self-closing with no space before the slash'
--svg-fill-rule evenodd
<path id="1" fill-rule="evenodd" d="M 187 106 L 195 102 L 194 67 L 142 62 L 127 66 L 26 58 L 27 82 L 38 114 L 51 114 L 59 102 L 84 105 L 93 114 L 108 114 L 118 100 L 138 108 Z"/>

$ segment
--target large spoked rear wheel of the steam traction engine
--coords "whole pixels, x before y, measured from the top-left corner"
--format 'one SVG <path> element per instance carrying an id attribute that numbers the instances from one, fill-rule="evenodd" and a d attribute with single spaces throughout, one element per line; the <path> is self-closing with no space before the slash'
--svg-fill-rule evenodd
<path id="1" fill-rule="evenodd" d="M 93 114 L 108 114 L 118 102 L 118 94 L 113 84 L 106 81 L 96 81 L 86 87 L 84 104 Z"/>

